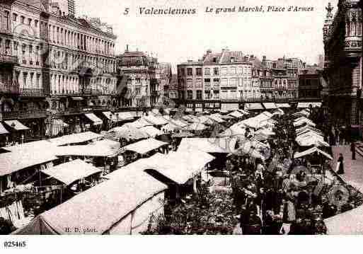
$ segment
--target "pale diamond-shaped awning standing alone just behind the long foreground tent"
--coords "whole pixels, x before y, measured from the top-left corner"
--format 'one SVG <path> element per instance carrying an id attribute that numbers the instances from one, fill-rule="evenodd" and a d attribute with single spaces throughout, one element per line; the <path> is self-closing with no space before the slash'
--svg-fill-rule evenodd
<path id="1" fill-rule="evenodd" d="M 50 175 L 52 178 L 55 178 L 66 185 L 71 185 L 76 182 L 76 180 L 81 180 L 82 178 L 86 178 L 100 172 L 102 171 L 92 164 L 86 163 L 82 160 L 69 161 L 67 163 L 42 170 L 42 173 Z"/>

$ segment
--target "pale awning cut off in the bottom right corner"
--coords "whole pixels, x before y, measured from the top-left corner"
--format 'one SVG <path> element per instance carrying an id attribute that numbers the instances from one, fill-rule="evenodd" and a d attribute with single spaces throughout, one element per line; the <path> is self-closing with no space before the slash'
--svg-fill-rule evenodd
<path id="1" fill-rule="evenodd" d="M 363 205 L 324 219 L 328 235 L 362 235 Z"/>

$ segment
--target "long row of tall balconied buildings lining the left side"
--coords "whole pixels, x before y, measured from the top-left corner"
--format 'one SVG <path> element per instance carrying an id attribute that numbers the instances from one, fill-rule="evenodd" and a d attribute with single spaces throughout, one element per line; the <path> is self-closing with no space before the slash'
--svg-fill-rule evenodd
<path id="1" fill-rule="evenodd" d="M 71 129 L 87 128 L 82 110 L 71 109 L 117 105 L 117 37 L 110 25 L 76 18 L 72 0 L 6 0 L 0 8 L 3 120 L 18 112 L 17 120 L 32 126 L 30 136 L 52 136 L 57 120 Z"/>

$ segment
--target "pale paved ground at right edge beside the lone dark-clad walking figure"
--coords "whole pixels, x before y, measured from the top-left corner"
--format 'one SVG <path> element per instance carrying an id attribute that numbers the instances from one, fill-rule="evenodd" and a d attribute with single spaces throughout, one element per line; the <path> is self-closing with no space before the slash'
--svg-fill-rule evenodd
<path id="1" fill-rule="evenodd" d="M 356 154 L 356 160 L 352 161 L 350 146 L 333 146 L 334 163 L 332 166 L 334 170 L 340 153 L 344 157 L 345 169 L 345 174 L 341 175 L 342 178 L 360 192 L 363 192 L 363 157 Z"/>

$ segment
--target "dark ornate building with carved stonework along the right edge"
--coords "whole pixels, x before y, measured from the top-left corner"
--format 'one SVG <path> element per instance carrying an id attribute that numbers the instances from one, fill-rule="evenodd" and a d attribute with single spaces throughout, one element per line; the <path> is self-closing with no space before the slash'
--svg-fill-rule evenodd
<path id="1" fill-rule="evenodd" d="M 334 122 L 362 126 L 362 10 L 357 0 L 328 4 L 323 27 L 328 106 Z"/>

